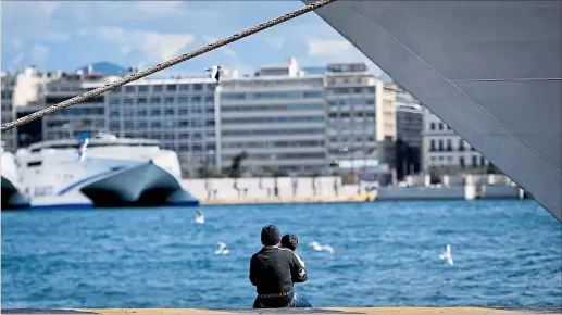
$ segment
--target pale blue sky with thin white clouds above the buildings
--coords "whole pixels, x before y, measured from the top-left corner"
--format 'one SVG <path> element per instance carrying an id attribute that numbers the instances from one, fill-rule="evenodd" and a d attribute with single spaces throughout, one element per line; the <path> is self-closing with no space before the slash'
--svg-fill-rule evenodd
<path id="1" fill-rule="evenodd" d="M 301 1 L 1 1 L 1 67 L 75 70 L 95 62 L 146 68 L 303 7 Z M 249 74 L 260 65 L 370 63 L 313 12 L 165 70 L 210 65 Z"/>

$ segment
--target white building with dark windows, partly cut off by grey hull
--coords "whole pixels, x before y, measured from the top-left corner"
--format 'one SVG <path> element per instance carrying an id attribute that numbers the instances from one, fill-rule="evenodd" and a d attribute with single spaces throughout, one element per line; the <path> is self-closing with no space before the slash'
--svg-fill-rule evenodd
<path id="1" fill-rule="evenodd" d="M 488 161 L 457 135 L 436 115 L 426 111 L 423 133 L 423 168 L 471 169 L 482 168 Z"/>

